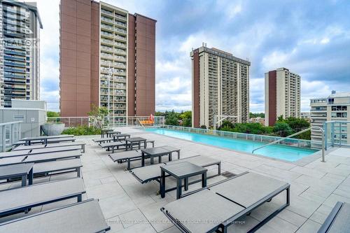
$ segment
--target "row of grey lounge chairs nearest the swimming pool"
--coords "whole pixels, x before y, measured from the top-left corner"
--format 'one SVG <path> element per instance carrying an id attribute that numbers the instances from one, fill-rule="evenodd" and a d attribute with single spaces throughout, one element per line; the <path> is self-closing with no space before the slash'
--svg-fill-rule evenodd
<path id="1" fill-rule="evenodd" d="M 106 138 L 105 138 L 106 139 Z M 95 140 L 97 141 L 97 140 Z M 103 141 L 101 144 L 103 145 Z M 122 141 L 109 141 L 107 145 L 122 145 Z M 118 148 L 118 146 L 116 146 Z M 217 166 L 221 175 L 221 161 L 203 155 L 195 155 L 169 162 L 160 162 L 144 167 L 131 168 L 130 163 L 140 160 L 141 150 L 131 150 L 121 153 L 111 153 L 113 162 L 127 162 L 127 169 L 141 184 L 157 181 L 161 184 L 161 167 L 169 164 L 190 162 L 200 167 Z M 207 178 L 210 178 L 209 176 Z M 198 181 L 193 181 L 196 183 Z M 169 188 L 166 191 L 174 190 Z M 174 223 L 181 232 L 228 232 L 237 220 L 249 215 L 252 211 L 267 202 L 271 202 L 277 195 L 285 195 L 285 202 L 278 209 L 270 213 L 265 219 L 255 225 L 249 232 L 255 232 L 262 225 L 274 218 L 290 205 L 290 184 L 255 174 L 244 172 L 211 184 L 205 188 L 187 192 L 180 199 L 163 206 L 160 211 Z M 349 232 L 350 204 L 338 202 L 327 220 L 318 231 Z"/>

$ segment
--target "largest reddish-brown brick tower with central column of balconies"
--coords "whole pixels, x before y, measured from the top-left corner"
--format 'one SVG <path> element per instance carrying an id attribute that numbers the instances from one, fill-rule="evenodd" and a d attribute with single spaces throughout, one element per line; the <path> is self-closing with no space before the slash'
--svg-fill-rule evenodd
<path id="1" fill-rule="evenodd" d="M 115 122 L 154 114 L 156 21 L 91 0 L 62 0 L 59 15 L 61 115 L 92 104 Z"/>

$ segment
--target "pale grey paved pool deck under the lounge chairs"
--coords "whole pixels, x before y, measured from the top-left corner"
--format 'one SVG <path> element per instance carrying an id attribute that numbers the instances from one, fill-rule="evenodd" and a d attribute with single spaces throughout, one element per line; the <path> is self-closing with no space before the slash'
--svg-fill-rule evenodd
<path id="1" fill-rule="evenodd" d="M 253 171 L 290 183 L 290 206 L 283 210 L 258 232 L 317 232 L 321 223 L 337 201 L 350 203 L 350 149 L 332 148 L 325 157 L 325 163 L 319 156 L 310 158 L 301 164 L 272 160 L 268 157 L 249 155 L 232 150 L 206 146 L 193 141 L 170 138 L 160 134 L 152 134 L 134 128 L 118 128 L 132 136 L 142 136 L 155 140 L 155 146 L 174 146 L 181 148 L 181 157 L 206 155 L 222 162 L 222 172 L 239 174 Z M 151 182 L 141 184 L 129 171 L 126 164 L 113 163 L 107 152 L 92 141 L 100 136 L 78 136 L 79 141 L 87 143 L 83 162 L 82 175 L 86 188 L 84 198 L 99 199 L 99 204 L 111 226 L 110 232 L 179 232 L 160 208 L 175 200 L 175 191 L 167 192 L 164 199 L 157 195 L 159 184 Z M 167 160 L 164 157 L 165 160 Z M 149 161 L 148 161 L 149 162 Z M 139 166 L 141 161 L 132 164 Z M 213 167 L 209 172 L 214 173 Z M 73 177 L 75 173 L 38 178 L 35 183 Z M 208 180 L 208 184 L 224 179 L 216 176 Z M 169 179 L 167 184 L 174 185 Z M 0 190 L 13 188 L 19 183 L 0 185 Z M 190 185 L 190 190 L 200 188 L 200 183 Z M 284 201 L 284 193 L 272 199 L 272 202 L 260 206 L 244 219 L 244 224 L 232 225 L 229 232 L 246 232 L 262 220 L 268 213 L 276 209 Z M 71 201 L 36 207 L 31 213 L 43 211 Z M 8 216 L 0 221 L 18 217 Z"/>

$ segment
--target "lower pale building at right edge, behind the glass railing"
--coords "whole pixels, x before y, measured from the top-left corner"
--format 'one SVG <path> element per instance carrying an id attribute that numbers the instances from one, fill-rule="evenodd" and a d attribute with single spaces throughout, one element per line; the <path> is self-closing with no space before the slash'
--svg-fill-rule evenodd
<path id="1" fill-rule="evenodd" d="M 347 121 L 350 120 L 350 92 L 332 91 L 328 97 L 310 99 L 311 126 L 323 128 L 323 123 L 330 120 Z M 349 144 L 350 127 L 348 124 L 335 126 L 332 140 L 335 143 Z M 311 129 L 311 141 L 322 141 L 322 133 L 319 129 Z"/>

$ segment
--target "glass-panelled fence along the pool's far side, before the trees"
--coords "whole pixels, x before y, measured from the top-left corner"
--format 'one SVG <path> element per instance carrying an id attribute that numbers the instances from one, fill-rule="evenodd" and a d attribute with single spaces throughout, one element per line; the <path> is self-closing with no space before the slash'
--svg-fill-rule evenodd
<path id="1" fill-rule="evenodd" d="M 192 132 L 197 134 L 225 136 L 231 139 L 244 139 L 249 141 L 258 141 L 262 143 L 271 143 L 273 141 L 283 139 L 283 137 L 280 137 L 280 136 L 266 136 L 261 134 L 244 134 L 244 133 L 237 133 L 237 132 L 227 132 L 227 131 L 212 130 L 212 129 L 199 129 L 199 128 L 192 128 L 192 127 L 174 126 L 174 125 L 165 125 L 165 128 L 180 130 L 185 132 Z M 304 139 L 285 139 L 283 141 L 280 141 L 278 144 L 286 145 L 286 146 L 295 146 L 300 148 L 315 148 L 315 146 L 318 145 L 321 148 L 321 141 L 320 142 L 309 141 Z"/>

